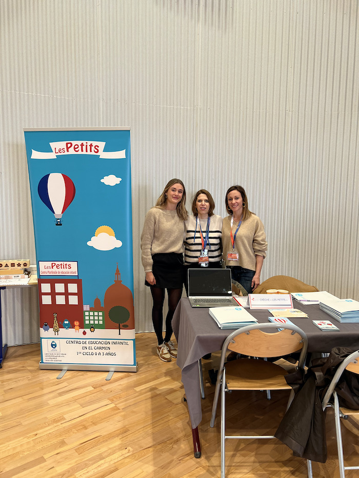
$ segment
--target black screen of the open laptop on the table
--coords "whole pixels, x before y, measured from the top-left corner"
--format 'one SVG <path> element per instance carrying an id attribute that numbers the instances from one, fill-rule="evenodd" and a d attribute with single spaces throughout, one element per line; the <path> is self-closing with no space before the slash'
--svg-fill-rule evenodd
<path id="1" fill-rule="evenodd" d="M 231 269 L 188 269 L 188 296 L 211 297 L 232 295 Z"/>

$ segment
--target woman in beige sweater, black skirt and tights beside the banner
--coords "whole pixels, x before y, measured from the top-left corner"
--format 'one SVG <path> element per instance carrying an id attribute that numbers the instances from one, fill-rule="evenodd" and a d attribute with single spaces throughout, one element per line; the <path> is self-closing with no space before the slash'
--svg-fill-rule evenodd
<path id="1" fill-rule="evenodd" d="M 171 179 L 156 205 L 146 214 L 141 235 L 142 264 L 146 273 L 145 284 L 150 287 L 153 306 L 152 322 L 156 332 L 158 357 L 170 362 L 177 357 L 171 341 L 172 317 L 181 299 L 184 266 L 184 233 L 187 219 L 186 190 L 180 179 Z M 163 304 L 165 289 L 168 295 L 166 332 L 163 338 Z"/>

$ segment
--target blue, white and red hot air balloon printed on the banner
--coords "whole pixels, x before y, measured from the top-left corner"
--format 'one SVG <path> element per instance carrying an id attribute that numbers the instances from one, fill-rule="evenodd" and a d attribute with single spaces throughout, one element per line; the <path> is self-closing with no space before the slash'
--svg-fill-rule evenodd
<path id="1" fill-rule="evenodd" d="M 75 185 L 62 173 L 50 173 L 40 179 L 37 192 L 40 199 L 56 218 L 56 226 L 62 226 L 64 211 L 75 197 Z"/>

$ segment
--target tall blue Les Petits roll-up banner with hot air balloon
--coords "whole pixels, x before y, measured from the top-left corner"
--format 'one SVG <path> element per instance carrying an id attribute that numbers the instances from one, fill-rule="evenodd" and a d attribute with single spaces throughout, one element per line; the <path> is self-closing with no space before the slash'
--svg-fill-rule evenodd
<path id="1" fill-rule="evenodd" d="M 130 131 L 24 132 L 40 368 L 136 371 Z"/>

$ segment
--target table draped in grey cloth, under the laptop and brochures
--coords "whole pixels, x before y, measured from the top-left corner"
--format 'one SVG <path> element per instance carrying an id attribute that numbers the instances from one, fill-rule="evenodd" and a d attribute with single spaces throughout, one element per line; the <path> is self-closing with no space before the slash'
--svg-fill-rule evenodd
<path id="1" fill-rule="evenodd" d="M 308 337 L 308 352 L 330 352 L 333 347 L 359 349 L 359 323 L 342 324 L 332 319 L 320 309 L 319 305 L 303 305 L 294 301 L 293 306 L 304 310 L 309 318 L 291 318 L 302 328 Z M 249 311 L 249 309 L 247 309 Z M 250 310 L 258 322 L 268 322 L 268 310 Z M 339 331 L 322 331 L 312 320 L 330 320 Z M 188 298 L 179 301 L 175 310 L 172 327 L 177 339 L 177 365 L 182 370 L 182 383 L 185 387 L 188 412 L 192 426 L 194 455 L 201 456 L 198 425 L 202 421 L 200 375 L 198 360 L 204 355 L 222 348 L 226 337 L 233 330 L 221 330 L 208 313 L 208 308 L 191 307 Z"/>

